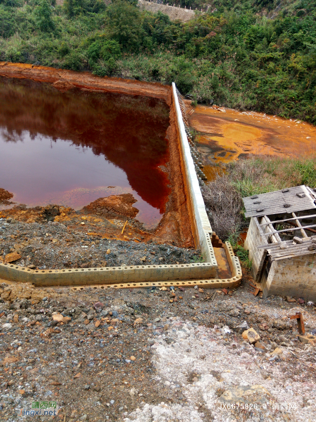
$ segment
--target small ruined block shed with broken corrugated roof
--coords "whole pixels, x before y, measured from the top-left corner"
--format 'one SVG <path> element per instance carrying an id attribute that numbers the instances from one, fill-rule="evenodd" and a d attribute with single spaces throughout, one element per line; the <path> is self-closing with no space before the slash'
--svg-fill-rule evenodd
<path id="1" fill-rule="evenodd" d="M 264 297 L 316 300 L 315 201 L 306 186 L 244 198 L 251 217 L 245 248 Z"/>

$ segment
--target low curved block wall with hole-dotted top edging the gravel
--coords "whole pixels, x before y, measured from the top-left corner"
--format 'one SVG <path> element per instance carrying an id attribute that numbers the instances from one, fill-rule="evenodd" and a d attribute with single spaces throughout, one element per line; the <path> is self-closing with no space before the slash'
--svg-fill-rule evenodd
<path id="1" fill-rule="evenodd" d="M 214 278 L 211 263 L 180 265 L 136 265 L 108 268 L 80 268 L 71 270 L 31 270 L 13 264 L 0 264 L 0 278 L 30 282 L 35 286 L 74 286 L 102 284 L 112 287 L 147 287 L 162 285 L 203 285 L 204 287 L 230 287 L 242 277 L 239 259 L 234 256 L 229 242 L 224 244 L 232 277 Z M 136 282 L 137 281 L 137 282 Z"/>

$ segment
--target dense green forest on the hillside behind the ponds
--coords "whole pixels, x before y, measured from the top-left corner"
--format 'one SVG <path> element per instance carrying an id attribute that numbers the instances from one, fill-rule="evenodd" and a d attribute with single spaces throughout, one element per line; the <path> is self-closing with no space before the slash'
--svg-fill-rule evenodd
<path id="1" fill-rule="evenodd" d="M 316 124 L 316 0 L 0 0 L 0 60 L 170 84 L 194 101 Z"/>

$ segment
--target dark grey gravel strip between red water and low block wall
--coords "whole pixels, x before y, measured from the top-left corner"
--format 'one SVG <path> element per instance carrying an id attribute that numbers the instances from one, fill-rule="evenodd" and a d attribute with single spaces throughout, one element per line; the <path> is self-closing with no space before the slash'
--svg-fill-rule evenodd
<path id="1" fill-rule="evenodd" d="M 0 218 L 0 259 L 16 252 L 14 264 L 32 269 L 89 268 L 121 265 L 179 264 L 199 262 L 200 251 L 156 244 L 102 238 L 84 229 L 78 231 L 68 222 L 20 222 Z M 121 229 L 122 230 L 122 229 Z"/>

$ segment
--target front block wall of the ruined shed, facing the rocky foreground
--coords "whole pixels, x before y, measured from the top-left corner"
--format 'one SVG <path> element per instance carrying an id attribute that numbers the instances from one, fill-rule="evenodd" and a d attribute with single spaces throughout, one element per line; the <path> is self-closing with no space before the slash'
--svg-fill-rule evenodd
<path id="1" fill-rule="evenodd" d="M 279 294 L 316 301 L 316 254 L 273 261 L 262 287 L 264 297 Z"/>

